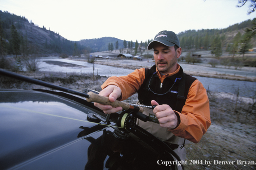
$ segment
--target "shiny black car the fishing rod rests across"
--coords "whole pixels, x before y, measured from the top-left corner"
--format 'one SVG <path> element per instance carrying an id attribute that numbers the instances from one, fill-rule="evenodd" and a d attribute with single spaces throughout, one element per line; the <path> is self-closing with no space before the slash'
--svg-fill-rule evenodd
<path id="1" fill-rule="evenodd" d="M 175 169 L 164 162 L 177 155 L 131 113 L 105 115 L 64 92 L 0 89 L 0 170 Z"/>

